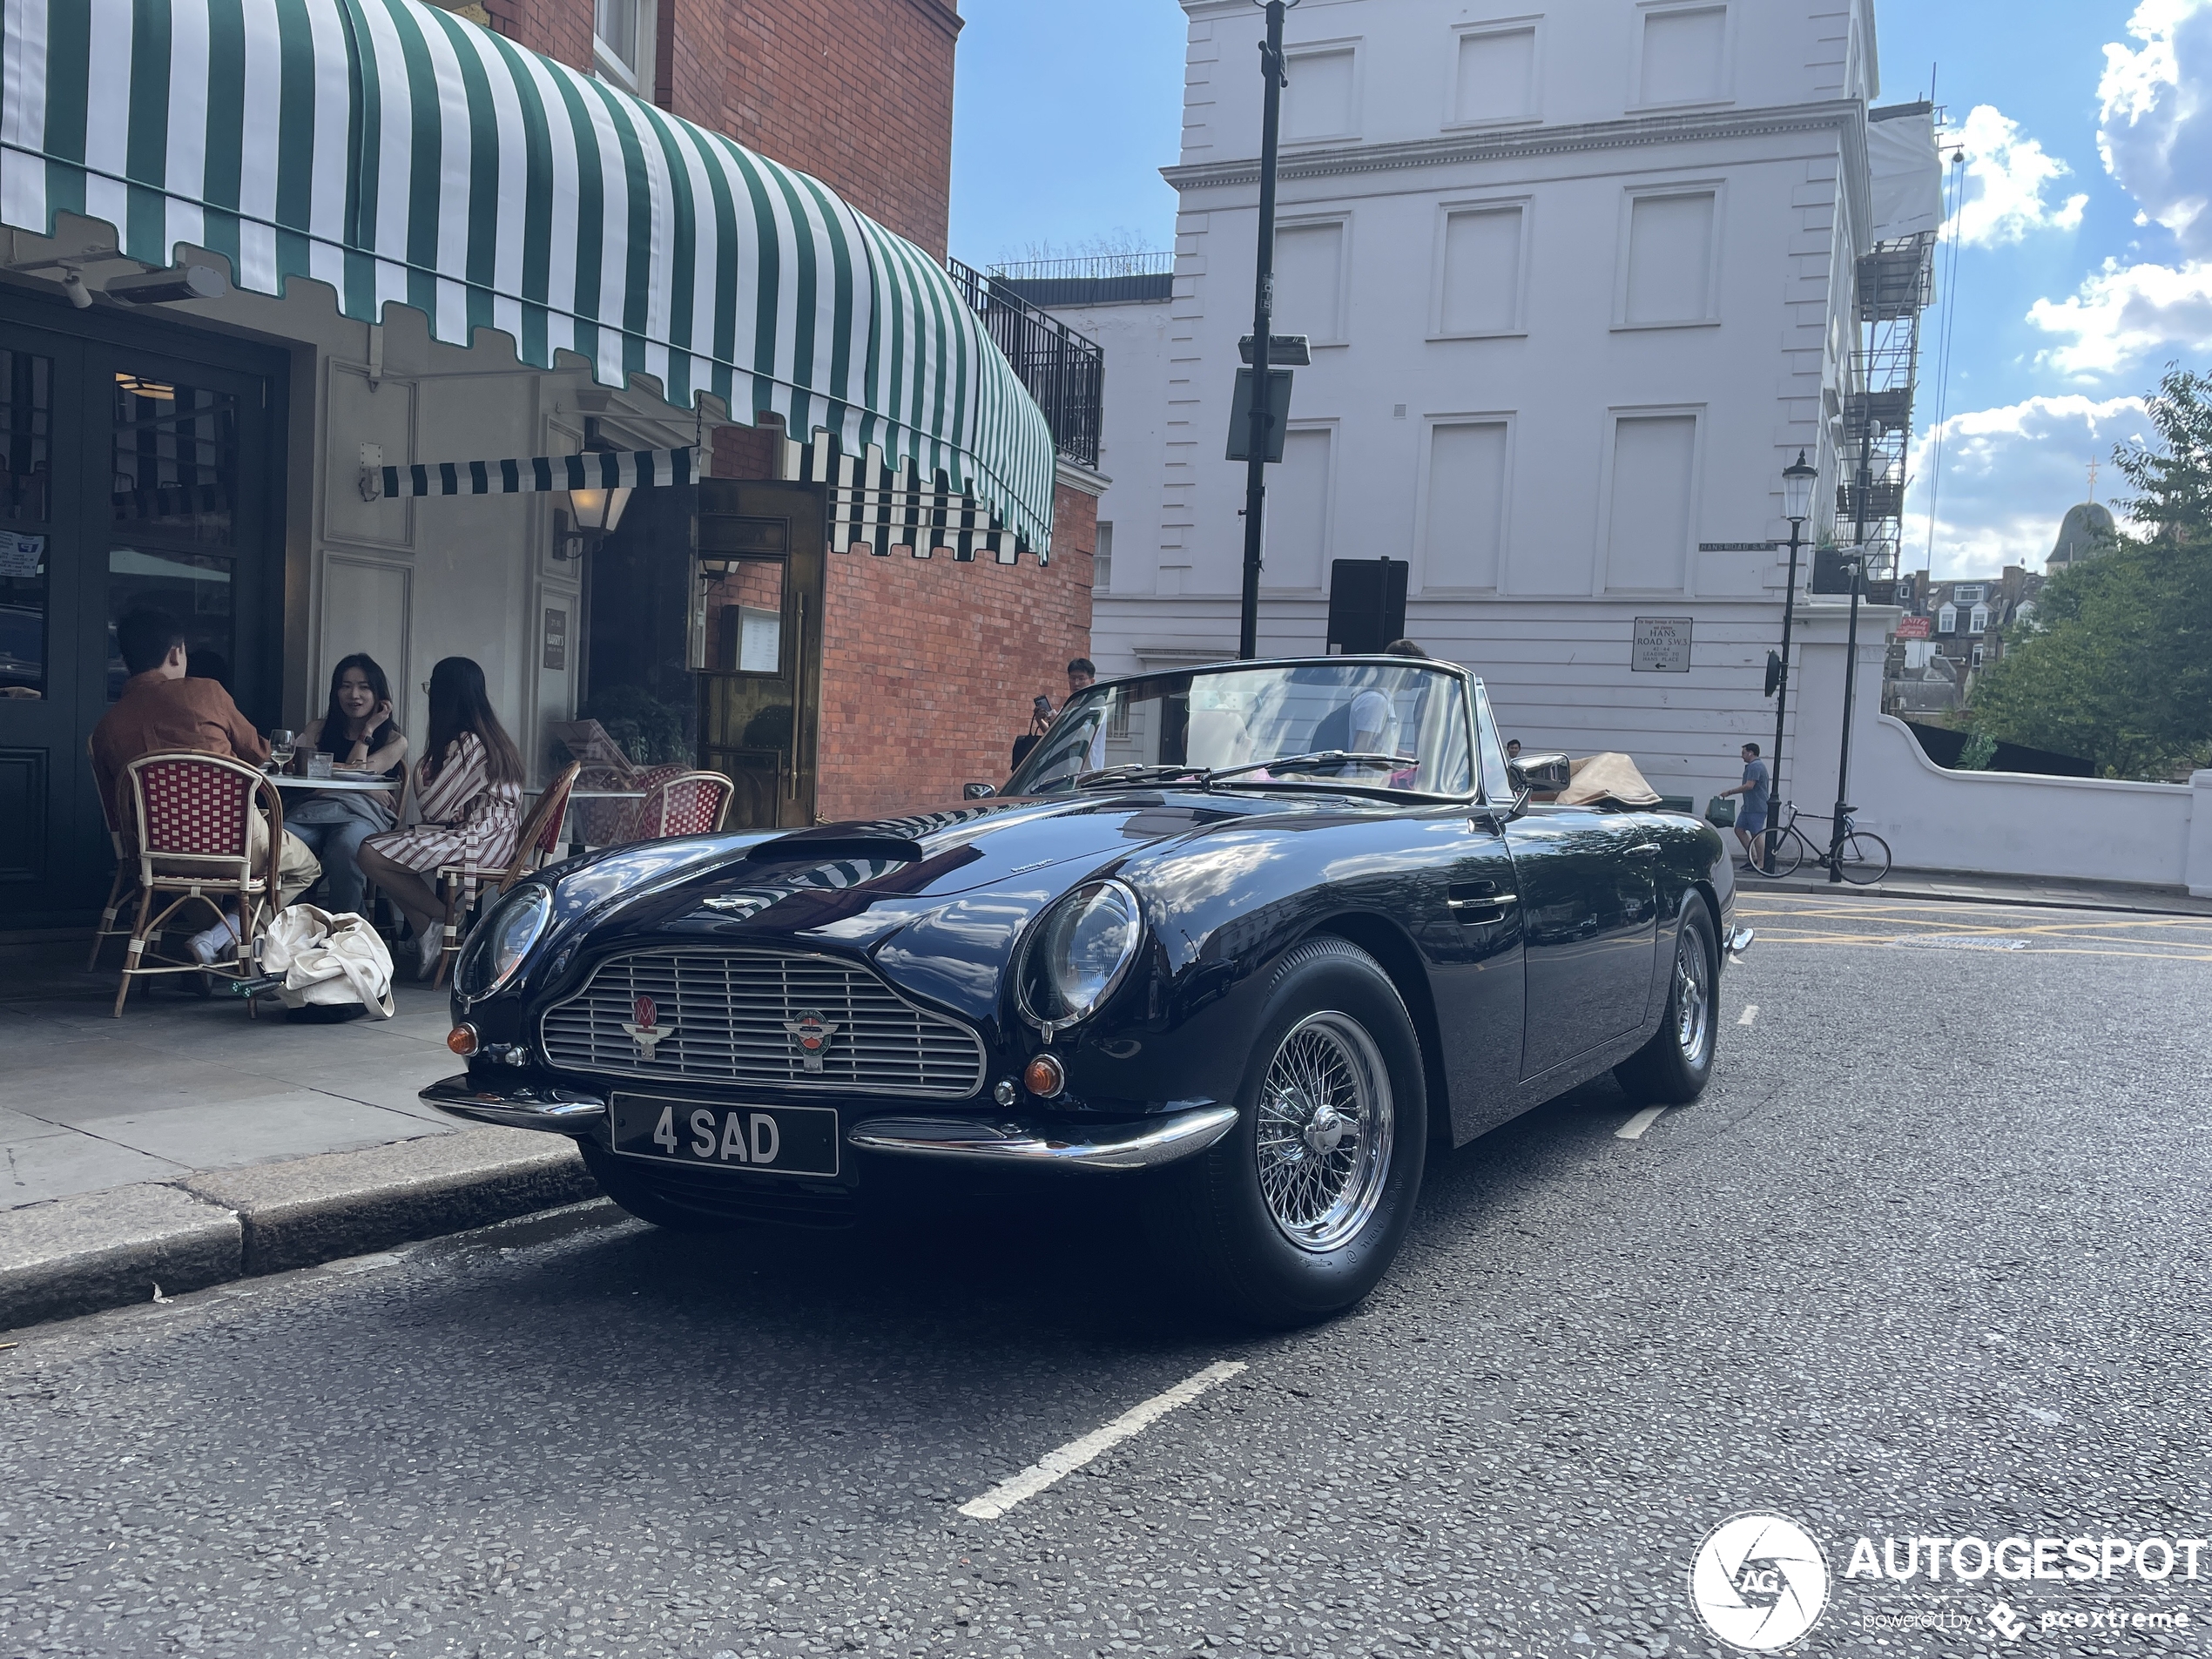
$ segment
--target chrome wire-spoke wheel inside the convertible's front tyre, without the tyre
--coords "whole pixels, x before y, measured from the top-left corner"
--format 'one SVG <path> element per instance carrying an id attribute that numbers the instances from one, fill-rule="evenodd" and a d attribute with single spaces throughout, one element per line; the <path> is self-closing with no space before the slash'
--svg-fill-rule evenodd
<path id="1" fill-rule="evenodd" d="M 1283 1237 L 1336 1250 L 1374 1217 L 1391 1159 L 1389 1071 L 1345 1013 L 1294 1024 L 1259 1091 L 1259 1190 Z"/>

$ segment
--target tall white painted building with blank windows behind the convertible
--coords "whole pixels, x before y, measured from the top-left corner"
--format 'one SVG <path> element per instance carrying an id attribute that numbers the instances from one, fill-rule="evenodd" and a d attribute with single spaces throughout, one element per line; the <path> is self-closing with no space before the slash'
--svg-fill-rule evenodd
<path id="1" fill-rule="evenodd" d="M 1237 644 L 1263 13 L 1183 9 L 1172 294 L 1062 310 L 1108 347 L 1108 675 Z M 1482 672 L 1526 748 L 1626 750 L 1699 803 L 1734 783 L 1774 734 L 1781 471 L 1820 467 L 1809 544 L 1856 440 L 1856 259 L 1896 234 L 1874 46 L 1869 0 L 1298 4 L 1276 332 L 1314 365 L 1270 469 L 1261 650 L 1323 650 L 1332 560 L 1409 560 L 1407 633 Z M 1688 672 L 1630 666 L 1639 617 L 1688 619 Z M 1832 757 L 1838 710 L 1809 719 Z"/>

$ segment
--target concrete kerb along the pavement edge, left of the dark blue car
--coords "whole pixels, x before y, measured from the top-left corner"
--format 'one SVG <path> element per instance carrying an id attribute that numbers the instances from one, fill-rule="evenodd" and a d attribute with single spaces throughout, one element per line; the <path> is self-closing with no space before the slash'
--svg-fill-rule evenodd
<path id="1" fill-rule="evenodd" d="M 599 1194 L 566 1137 L 471 1128 L 0 1212 L 0 1329 L 312 1267 Z"/>

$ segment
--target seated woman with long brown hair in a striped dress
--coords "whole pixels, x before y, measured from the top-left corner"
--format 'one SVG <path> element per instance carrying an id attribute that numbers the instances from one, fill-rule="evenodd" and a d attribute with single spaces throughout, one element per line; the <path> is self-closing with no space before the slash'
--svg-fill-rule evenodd
<path id="1" fill-rule="evenodd" d="M 405 911 L 416 936 L 416 975 L 438 969 L 445 905 L 442 865 L 495 869 L 515 856 L 522 825 L 522 754 L 491 712 L 484 670 L 473 657 L 447 657 L 429 675 L 429 741 L 416 763 L 411 830 L 361 843 L 361 874 Z"/>

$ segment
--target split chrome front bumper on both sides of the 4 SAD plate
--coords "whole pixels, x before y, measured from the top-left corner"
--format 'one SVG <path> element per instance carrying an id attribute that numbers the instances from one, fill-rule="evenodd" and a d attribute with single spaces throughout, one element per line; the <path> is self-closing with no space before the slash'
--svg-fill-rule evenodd
<path id="1" fill-rule="evenodd" d="M 606 1128 L 606 1102 L 577 1088 L 478 1088 L 467 1077 L 445 1077 L 422 1091 L 440 1113 L 502 1128 L 544 1128 L 591 1135 Z M 973 1117 L 863 1117 L 845 1144 L 863 1152 L 891 1152 L 956 1164 L 1055 1166 L 1068 1170 L 1157 1170 L 1203 1152 L 1230 1133 L 1234 1106 L 1197 1106 L 1186 1113 L 1117 1124 L 1022 1124 Z"/>

